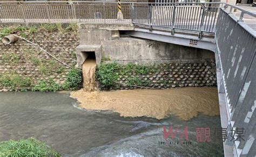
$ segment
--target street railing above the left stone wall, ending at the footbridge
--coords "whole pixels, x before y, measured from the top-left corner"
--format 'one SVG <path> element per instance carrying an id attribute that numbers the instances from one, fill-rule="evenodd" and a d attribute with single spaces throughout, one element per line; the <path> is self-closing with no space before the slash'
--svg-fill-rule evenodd
<path id="1" fill-rule="evenodd" d="M 0 22 L 131 22 L 131 2 L 121 2 L 124 21 L 117 21 L 117 2 L 0 2 Z"/>

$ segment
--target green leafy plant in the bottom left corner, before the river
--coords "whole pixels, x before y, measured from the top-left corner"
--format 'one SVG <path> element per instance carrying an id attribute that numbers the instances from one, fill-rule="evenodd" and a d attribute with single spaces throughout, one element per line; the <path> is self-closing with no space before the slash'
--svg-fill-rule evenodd
<path id="1" fill-rule="evenodd" d="M 60 156 L 52 147 L 35 138 L 0 142 L 0 156 Z"/>

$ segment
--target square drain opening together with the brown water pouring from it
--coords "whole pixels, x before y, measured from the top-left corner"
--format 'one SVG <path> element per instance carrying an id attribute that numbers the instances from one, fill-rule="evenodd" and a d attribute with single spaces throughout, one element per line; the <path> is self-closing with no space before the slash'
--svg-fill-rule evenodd
<path id="1" fill-rule="evenodd" d="M 85 61 L 83 63 L 83 87 L 84 91 L 92 92 L 96 90 L 95 72 L 96 72 L 96 56 L 94 51 L 82 52 Z"/>

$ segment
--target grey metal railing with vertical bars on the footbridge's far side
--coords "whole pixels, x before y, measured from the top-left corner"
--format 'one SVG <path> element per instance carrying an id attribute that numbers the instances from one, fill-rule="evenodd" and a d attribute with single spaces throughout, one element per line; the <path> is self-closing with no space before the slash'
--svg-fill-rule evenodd
<path id="1" fill-rule="evenodd" d="M 134 24 L 214 32 L 221 3 L 149 3 L 133 5 Z"/>

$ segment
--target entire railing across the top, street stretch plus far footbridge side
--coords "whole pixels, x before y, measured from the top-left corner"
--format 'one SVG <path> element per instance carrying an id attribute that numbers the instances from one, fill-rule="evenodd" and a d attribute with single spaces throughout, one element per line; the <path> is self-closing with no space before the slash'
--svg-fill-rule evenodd
<path id="1" fill-rule="evenodd" d="M 161 0 L 159 0 L 161 1 Z M 134 25 L 197 31 L 214 34 L 219 8 L 226 3 L 188 2 L 144 3 L 121 2 L 123 21 L 117 20 L 117 2 L 0 2 L 0 22 L 19 23 L 133 23 Z M 236 8 L 228 5 L 228 9 Z M 241 17 L 249 12 L 241 11 Z"/>

